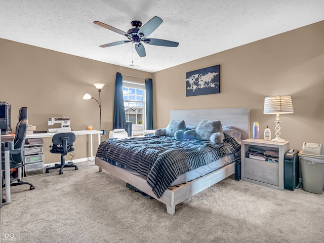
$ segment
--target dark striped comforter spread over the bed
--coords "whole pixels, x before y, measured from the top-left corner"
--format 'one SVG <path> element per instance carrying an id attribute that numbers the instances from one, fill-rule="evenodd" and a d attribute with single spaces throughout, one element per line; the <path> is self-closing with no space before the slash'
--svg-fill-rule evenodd
<path id="1" fill-rule="evenodd" d="M 240 145 L 225 134 L 222 144 L 168 136 L 110 138 L 96 156 L 139 173 L 159 198 L 177 177 L 239 151 Z"/>

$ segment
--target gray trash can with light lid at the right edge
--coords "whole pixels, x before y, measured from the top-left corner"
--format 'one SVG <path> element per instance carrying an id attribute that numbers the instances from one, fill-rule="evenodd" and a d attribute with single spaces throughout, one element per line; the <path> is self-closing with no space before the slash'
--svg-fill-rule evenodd
<path id="1" fill-rule="evenodd" d="M 301 167 L 303 190 L 322 194 L 324 188 L 323 144 L 303 143 L 298 154 Z"/>

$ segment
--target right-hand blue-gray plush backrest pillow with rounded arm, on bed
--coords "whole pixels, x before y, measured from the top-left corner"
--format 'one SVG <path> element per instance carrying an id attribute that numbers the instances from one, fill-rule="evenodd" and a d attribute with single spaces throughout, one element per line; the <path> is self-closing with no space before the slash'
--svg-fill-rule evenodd
<path id="1" fill-rule="evenodd" d="M 195 131 L 197 139 L 218 144 L 222 143 L 224 140 L 224 133 L 220 120 L 201 120 Z"/>

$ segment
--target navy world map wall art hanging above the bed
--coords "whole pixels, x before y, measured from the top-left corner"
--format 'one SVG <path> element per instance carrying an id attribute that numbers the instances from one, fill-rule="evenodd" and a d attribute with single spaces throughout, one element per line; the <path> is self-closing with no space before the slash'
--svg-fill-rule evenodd
<path id="1" fill-rule="evenodd" d="M 186 96 L 219 93 L 221 65 L 186 73 Z"/>

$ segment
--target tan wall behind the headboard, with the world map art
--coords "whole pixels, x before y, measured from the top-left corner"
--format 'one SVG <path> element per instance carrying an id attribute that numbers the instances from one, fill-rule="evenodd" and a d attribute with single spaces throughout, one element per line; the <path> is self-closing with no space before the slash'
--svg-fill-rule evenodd
<path id="1" fill-rule="evenodd" d="M 264 97 L 292 96 L 294 113 L 282 114 L 281 137 L 291 148 L 324 143 L 324 21 L 154 73 L 154 128 L 164 128 L 170 110 L 250 107 L 260 138 L 275 115 L 263 114 Z M 181 45 L 181 44 L 180 44 Z M 215 40 L 217 45 L 217 40 Z M 221 65 L 220 94 L 186 97 L 186 72 Z"/>

